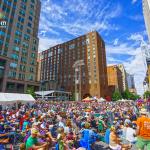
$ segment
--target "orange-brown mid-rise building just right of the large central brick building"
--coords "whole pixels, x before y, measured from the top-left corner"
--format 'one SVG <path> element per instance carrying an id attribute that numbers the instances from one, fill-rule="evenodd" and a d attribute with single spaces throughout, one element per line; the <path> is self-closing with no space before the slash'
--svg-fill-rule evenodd
<path id="1" fill-rule="evenodd" d="M 107 75 L 109 95 L 112 96 L 115 90 L 123 92 L 123 77 L 119 67 L 117 65 L 107 66 Z"/>

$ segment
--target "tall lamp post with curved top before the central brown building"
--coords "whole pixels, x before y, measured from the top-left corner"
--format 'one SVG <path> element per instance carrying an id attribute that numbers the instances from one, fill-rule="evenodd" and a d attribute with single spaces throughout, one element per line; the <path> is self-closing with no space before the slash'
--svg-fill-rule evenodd
<path id="1" fill-rule="evenodd" d="M 81 72 L 81 67 L 84 65 L 84 60 L 77 60 L 74 65 L 73 68 L 75 68 L 75 100 L 81 100 L 81 86 L 82 86 L 82 72 Z M 79 95 L 77 97 L 77 73 L 79 72 Z"/>

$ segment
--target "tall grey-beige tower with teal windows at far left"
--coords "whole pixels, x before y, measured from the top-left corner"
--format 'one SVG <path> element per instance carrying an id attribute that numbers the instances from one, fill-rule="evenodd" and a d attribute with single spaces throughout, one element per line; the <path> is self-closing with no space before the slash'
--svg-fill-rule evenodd
<path id="1" fill-rule="evenodd" d="M 38 87 L 40 0 L 0 0 L 0 91 Z"/>

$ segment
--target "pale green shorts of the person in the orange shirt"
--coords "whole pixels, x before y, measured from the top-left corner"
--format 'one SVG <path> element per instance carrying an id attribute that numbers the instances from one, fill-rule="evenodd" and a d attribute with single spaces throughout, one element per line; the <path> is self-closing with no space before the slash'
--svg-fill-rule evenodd
<path id="1" fill-rule="evenodd" d="M 150 149 L 150 139 L 147 140 L 147 139 L 143 139 L 141 137 L 138 137 L 137 138 L 137 142 L 136 142 L 136 147 L 141 149 L 141 150 L 144 150 L 144 148 L 147 146 L 147 150 Z"/>

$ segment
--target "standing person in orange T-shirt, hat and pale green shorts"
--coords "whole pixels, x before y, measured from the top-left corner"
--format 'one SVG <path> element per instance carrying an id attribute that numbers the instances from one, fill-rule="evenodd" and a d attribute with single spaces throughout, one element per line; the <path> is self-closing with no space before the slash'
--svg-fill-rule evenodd
<path id="1" fill-rule="evenodd" d="M 141 109 L 140 117 L 137 119 L 137 143 L 136 146 L 139 150 L 150 149 L 150 118 L 146 109 Z"/>

